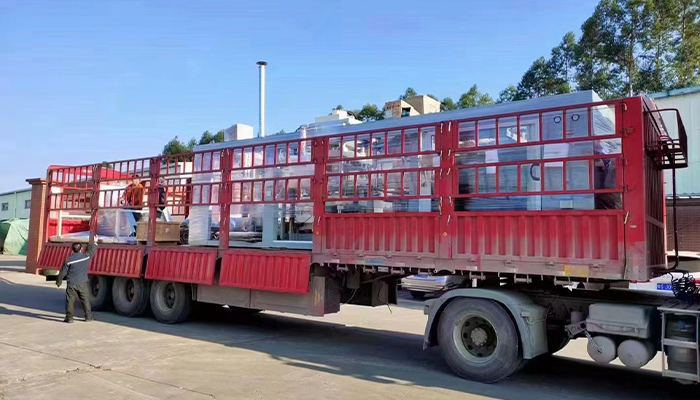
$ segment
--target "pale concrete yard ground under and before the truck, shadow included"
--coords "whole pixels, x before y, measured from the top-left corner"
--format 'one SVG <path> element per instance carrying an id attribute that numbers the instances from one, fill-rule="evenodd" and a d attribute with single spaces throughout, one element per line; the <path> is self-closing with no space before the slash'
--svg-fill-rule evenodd
<path id="1" fill-rule="evenodd" d="M 225 313 L 180 325 L 96 313 L 64 324 L 64 289 L 0 256 L 0 399 L 690 399 L 700 387 L 588 361 L 585 341 L 495 385 L 455 376 L 421 350 L 426 317 L 343 306 L 304 318 Z M 65 288 L 65 286 L 64 286 Z"/>

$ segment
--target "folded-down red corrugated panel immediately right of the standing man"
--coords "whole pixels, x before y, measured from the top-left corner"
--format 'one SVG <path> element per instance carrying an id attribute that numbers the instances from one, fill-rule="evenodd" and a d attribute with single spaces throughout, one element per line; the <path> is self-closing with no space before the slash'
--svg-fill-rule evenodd
<path id="1" fill-rule="evenodd" d="M 90 273 L 140 278 L 143 252 L 143 246 L 100 245 L 90 262 Z"/>

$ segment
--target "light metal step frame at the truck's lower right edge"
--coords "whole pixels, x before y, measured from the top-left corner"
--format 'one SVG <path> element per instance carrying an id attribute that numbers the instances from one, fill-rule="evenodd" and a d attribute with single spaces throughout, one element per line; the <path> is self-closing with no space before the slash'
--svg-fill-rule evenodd
<path id="1" fill-rule="evenodd" d="M 674 300 L 658 310 L 661 311 L 663 376 L 700 383 L 700 304 Z"/>

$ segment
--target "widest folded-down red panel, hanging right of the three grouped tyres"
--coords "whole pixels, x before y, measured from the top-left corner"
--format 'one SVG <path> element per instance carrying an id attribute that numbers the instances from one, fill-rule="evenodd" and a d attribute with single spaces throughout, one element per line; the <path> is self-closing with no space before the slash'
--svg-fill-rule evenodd
<path id="1" fill-rule="evenodd" d="M 311 254 L 228 250 L 221 259 L 219 285 L 283 293 L 307 293 Z"/>

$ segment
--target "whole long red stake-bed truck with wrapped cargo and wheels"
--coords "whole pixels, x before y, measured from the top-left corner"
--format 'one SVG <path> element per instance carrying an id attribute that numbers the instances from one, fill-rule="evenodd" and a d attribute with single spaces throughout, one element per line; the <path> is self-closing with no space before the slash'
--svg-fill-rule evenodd
<path id="1" fill-rule="evenodd" d="M 463 377 L 495 382 L 588 337 L 596 361 L 637 368 L 664 348 L 664 375 L 698 382 L 699 307 L 624 289 L 668 268 L 663 170 L 687 166 L 682 122 L 676 112 L 671 138 L 661 114 L 675 110 L 644 96 L 595 99 L 51 167 L 43 218 L 89 216 L 90 241 L 105 225 L 117 232 L 100 234 L 118 243 L 101 244 L 91 263 L 96 309 L 133 316 L 150 303 L 166 323 L 194 302 L 323 315 L 395 303 L 406 275 L 462 275 L 427 303 L 425 344 Z M 135 174 L 146 201 L 128 207 L 123 185 Z M 163 209 L 189 217 L 189 244 L 158 242 Z M 120 218 L 144 210 L 147 240 L 121 237 Z M 43 235 L 39 266 L 59 268 L 76 239 Z"/>

